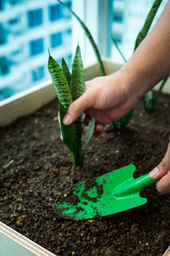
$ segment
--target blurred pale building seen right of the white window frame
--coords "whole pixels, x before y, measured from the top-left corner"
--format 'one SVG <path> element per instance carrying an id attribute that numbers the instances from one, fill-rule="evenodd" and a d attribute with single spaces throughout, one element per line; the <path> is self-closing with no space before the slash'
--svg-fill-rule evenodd
<path id="1" fill-rule="evenodd" d="M 154 0 L 113 0 L 112 36 L 122 49 L 126 59 L 133 54 L 135 40 L 139 31 L 144 26 L 144 20 L 148 15 Z M 163 0 L 153 21 L 161 15 L 167 0 Z M 122 62 L 122 57 L 114 44 L 111 46 L 111 58 L 113 61 Z"/>

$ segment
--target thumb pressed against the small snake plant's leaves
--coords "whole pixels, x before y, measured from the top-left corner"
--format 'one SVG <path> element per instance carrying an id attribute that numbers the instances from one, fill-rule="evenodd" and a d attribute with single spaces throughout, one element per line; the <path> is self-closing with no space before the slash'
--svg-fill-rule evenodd
<path id="1" fill-rule="evenodd" d="M 79 97 L 75 102 L 72 102 L 67 112 L 65 113 L 65 117 L 63 119 L 63 123 L 65 125 L 71 125 L 80 114 L 89 108 L 89 97 L 87 92 L 85 92 L 81 97 Z"/>

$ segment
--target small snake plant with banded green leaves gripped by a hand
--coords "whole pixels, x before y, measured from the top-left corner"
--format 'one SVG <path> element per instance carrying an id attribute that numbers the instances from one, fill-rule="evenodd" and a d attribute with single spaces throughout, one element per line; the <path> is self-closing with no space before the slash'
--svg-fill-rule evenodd
<path id="1" fill-rule="evenodd" d="M 63 141 L 71 151 L 71 158 L 74 166 L 82 166 L 85 149 L 93 135 L 95 119 L 92 118 L 82 147 L 82 115 L 71 125 L 64 125 L 62 119 L 65 116 L 71 102 L 82 96 L 85 91 L 85 78 L 82 66 L 80 47 L 77 46 L 76 55 L 72 65 L 72 73 L 65 60 L 62 60 L 62 67 L 50 55 L 48 57 L 48 71 L 54 84 L 59 99 L 59 119 Z"/>

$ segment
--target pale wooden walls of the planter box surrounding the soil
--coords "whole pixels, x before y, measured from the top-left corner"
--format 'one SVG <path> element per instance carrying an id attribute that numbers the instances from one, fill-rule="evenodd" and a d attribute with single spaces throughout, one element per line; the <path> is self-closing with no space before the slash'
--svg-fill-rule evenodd
<path id="1" fill-rule="evenodd" d="M 108 59 L 103 59 L 106 74 L 114 73 L 122 66 Z M 97 63 L 85 67 L 86 80 L 100 76 Z M 157 85 L 158 86 L 158 85 Z M 170 94 L 170 79 L 163 92 Z M 34 113 L 38 108 L 51 102 L 56 97 L 54 85 L 51 81 L 39 84 L 17 96 L 12 96 L 0 102 L 0 126 L 8 125 L 15 119 Z M 0 256 L 53 256 L 53 253 L 40 247 L 37 243 L 27 239 L 7 225 L 0 223 Z M 170 255 L 170 249 L 164 255 Z"/>

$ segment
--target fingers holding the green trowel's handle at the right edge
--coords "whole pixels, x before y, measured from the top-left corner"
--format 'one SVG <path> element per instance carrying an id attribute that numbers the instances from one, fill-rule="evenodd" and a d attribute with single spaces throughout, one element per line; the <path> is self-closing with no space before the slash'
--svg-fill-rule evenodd
<path id="1" fill-rule="evenodd" d="M 150 172 L 150 177 L 153 179 L 160 178 L 156 183 L 156 189 L 161 194 L 170 194 L 170 143 L 161 163 Z"/>

